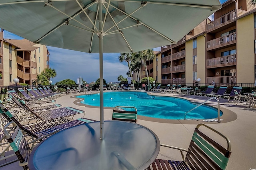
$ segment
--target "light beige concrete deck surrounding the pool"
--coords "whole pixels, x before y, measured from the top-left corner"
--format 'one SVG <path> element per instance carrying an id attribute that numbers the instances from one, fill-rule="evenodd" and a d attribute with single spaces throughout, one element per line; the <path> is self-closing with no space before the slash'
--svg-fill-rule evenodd
<path id="1" fill-rule="evenodd" d="M 152 95 L 173 96 L 170 94 L 154 93 Z M 80 99 L 76 96 L 81 94 L 67 94 L 56 99 L 56 103 L 63 107 L 70 106 L 84 110 L 85 117 L 100 120 L 100 109 L 98 107 L 85 106 L 80 104 Z M 174 95 L 175 96 L 175 95 Z M 204 102 L 209 98 L 195 96 L 175 96 L 188 99 L 194 102 Z M 216 107 L 214 100 L 208 102 Z M 220 100 L 220 109 L 224 112 L 220 123 L 206 122 L 203 120 L 158 120 L 155 118 L 138 116 L 137 123 L 144 125 L 154 131 L 160 143 L 188 149 L 192 133 L 196 125 L 204 123 L 216 129 L 230 139 L 232 149 L 231 156 L 226 169 L 228 170 L 249 170 L 256 168 L 256 108 L 249 109 L 246 103 L 234 106 L 232 102 Z M 75 119 L 83 115 L 75 115 Z M 112 108 L 104 108 L 104 120 L 111 120 Z M 224 145 L 226 147 L 226 145 Z M 182 160 L 178 150 L 161 147 L 158 158 Z M 22 170 L 18 162 L 0 167 L 0 170 Z"/>

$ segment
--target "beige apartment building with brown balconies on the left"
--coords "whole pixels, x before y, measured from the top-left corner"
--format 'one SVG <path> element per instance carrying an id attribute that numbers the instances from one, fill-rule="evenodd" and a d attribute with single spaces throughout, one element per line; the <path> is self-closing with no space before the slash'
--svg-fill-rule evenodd
<path id="1" fill-rule="evenodd" d="M 32 85 L 37 74 L 49 68 L 47 47 L 26 39 L 4 39 L 3 33 L 0 29 L 0 86 L 14 84 L 14 78 Z"/>

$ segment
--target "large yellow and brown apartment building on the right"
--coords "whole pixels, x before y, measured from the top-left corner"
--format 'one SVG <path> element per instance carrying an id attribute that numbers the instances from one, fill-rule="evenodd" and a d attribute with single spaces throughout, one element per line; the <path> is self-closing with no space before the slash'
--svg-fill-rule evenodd
<path id="1" fill-rule="evenodd" d="M 206 19 L 178 43 L 161 47 L 158 82 L 186 84 L 198 78 L 208 84 L 254 82 L 255 12 L 250 0 L 228 0 L 214 13 L 213 21 Z"/>

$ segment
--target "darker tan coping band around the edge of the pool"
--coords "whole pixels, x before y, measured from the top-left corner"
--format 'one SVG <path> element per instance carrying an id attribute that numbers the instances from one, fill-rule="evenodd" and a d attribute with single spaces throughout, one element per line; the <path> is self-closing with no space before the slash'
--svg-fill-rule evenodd
<path id="1" fill-rule="evenodd" d="M 112 91 L 105 91 L 105 92 L 112 92 Z M 118 92 L 118 91 L 114 91 L 114 92 Z M 122 91 L 120 91 L 122 92 Z M 99 93 L 96 92 L 96 93 Z M 94 92 L 94 94 L 96 94 Z M 188 100 L 190 102 L 199 102 L 199 101 L 195 101 L 196 99 L 194 98 L 186 98 L 184 96 L 166 96 L 164 94 L 161 93 L 152 93 L 152 92 L 144 92 L 147 93 L 149 95 L 154 95 L 154 96 L 163 96 L 163 97 L 176 97 L 176 98 L 182 98 L 185 100 Z M 160 94 L 160 95 L 159 95 Z M 81 98 L 78 98 L 78 96 L 83 96 L 85 94 L 76 94 L 76 95 L 72 95 L 70 96 L 70 98 L 75 98 L 77 100 L 75 100 L 73 103 L 75 105 L 78 106 L 85 106 L 85 107 L 89 107 L 89 108 L 99 108 L 99 106 L 90 106 L 90 105 L 86 105 L 86 104 L 82 104 L 81 102 Z M 211 106 L 211 107 L 215 107 L 217 108 L 216 104 L 206 104 L 206 106 Z M 114 107 L 104 107 L 104 109 L 111 109 L 113 110 Z M 230 121 L 234 121 L 237 119 L 237 115 L 234 111 L 231 111 L 229 109 L 226 109 L 222 106 L 220 106 L 220 110 L 222 111 L 222 116 L 220 116 L 220 122 L 219 123 L 228 123 Z M 153 117 L 146 117 L 146 116 L 142 116 L 142 115 L 138 115 L 137 117 L 140 120 L 144 120 L 144 121 L 152 121 L 152 122 L 159 122 L 159 123 L 173 123 L 173 124 L 198 124 L 198 123 L 205 123 L 205 124 L 214 124 L 217 123 L 218 118 L 214 118 L 214 119 L 187 119 L 187 120 L 178 120 L 178 119 L 159 119 L 159 118 L 153 118 Z M 204 121 L 204 120 L 208 120 L 208 121 Z M 215 121 L 216 120 L 216 121 Z"/>

